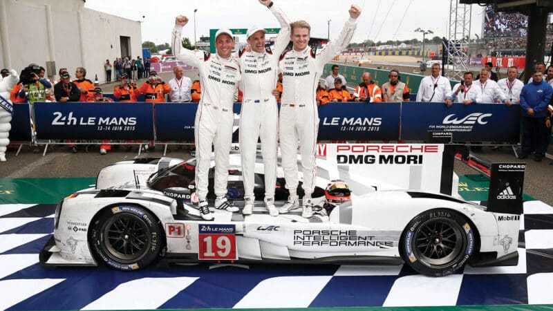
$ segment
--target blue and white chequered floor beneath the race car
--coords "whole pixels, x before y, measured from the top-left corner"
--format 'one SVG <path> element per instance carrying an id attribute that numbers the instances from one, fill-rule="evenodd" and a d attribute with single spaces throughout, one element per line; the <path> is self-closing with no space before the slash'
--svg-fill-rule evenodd
<path id="1" fill-rule="evenodd" d="M 553 207 L 524 203 L 518 265 L 432 278 L 405 265 L 170 265 L 138 272 L 39 264 L 55 205 L 0 205 L 1 310 L 344 308 L 553 303 Z"/>

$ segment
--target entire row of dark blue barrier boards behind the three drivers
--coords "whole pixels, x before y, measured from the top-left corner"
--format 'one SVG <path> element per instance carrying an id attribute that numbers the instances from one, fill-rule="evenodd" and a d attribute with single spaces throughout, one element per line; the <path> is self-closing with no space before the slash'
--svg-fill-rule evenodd
<path id="1" fill-rule="evenodd" d="M 12 140 L 30 140 L 28 104 L 16 104 Z M 194 140 L 198 104 L 37 102 L 38 140 Z M 236 113 L 234 140 L 238 138 Z M 505 104 L 329 103 L 319 107 L 319 140 L 425 140 L 451 131 L 453 140 L 518 142 L 520 107 Z"/>

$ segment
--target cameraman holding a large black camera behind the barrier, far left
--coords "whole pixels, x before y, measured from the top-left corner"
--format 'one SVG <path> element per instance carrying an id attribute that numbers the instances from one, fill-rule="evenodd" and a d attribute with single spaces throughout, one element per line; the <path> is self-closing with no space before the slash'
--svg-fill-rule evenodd
<path id="1" fill-rule="evenodd" d="M 48 80 L 40 78 L 40 72 L 40 66 L 37 64 L 30 64 L 21 70 L 19 82 L 23 84 L 23 87 L 19 91 L 19 97 L 25 98 L 29 104 L 46 102 L 46 91 L 48 88 L 52 88 L 52 84 Z"/>

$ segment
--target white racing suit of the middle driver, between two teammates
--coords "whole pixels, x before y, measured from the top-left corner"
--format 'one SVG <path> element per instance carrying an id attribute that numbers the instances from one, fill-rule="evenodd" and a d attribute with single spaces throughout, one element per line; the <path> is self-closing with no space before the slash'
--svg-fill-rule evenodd
<path id="1" fill-rule="evenodd" d="M 277 87 L 279 58 L 290 41 L 290 21 L 281 9 L 272 6 L 271 12 L 281 24 L 272 52 L 254 51 L 240 55 L 243 91 L 240 115 L 240 151 L 242 153 L 242 174 L 244 196 L 254 196 L 254 169 L 257 153 L 257 139 L 261 138 L 261 152 L 265 169 L 265 200 L 274 198 L 277 184 L 277 131 L 279 109 L 272 90 Z"/>

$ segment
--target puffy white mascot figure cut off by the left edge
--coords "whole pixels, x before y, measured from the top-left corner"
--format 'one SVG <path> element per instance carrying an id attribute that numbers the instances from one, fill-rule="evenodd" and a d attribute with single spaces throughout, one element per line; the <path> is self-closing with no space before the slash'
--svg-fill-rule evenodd
<path id="1" fill-rule="evenodd" d="M 6 106 L 6 109 L 9 109 L 8 106 L 12 105 L 10 100 L 10 91 L 19 81 L 19 75 L 17 71 L 10 69 L 10 75 L 8 77 L 2 78 L 0 76 L 0 96 L 6 102 L 2 102 L 2 106 Z M 0 99 L 0 101 L 3 101 Z M 0 162 L 6 161 L 6 147 L 10 144 L 10 129 L 12 129 L 12 113 L 8 112 L 6 109 L 0 107 Z M 13 110 L 12 110 L 13 111 Z"/>

